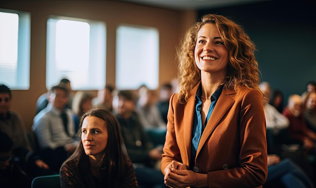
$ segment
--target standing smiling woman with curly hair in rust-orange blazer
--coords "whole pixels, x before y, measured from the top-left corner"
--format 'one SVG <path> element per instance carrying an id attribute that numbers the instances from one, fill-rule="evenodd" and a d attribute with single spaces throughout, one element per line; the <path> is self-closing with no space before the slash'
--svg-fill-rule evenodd
<path id="1" fill-rule="evenodd" d="M 170 187 L 262 187 L 266 121 L 255 45 L 208 14 L 181 40 L 179 91 L 170 99 L 161 169 Z"/>

